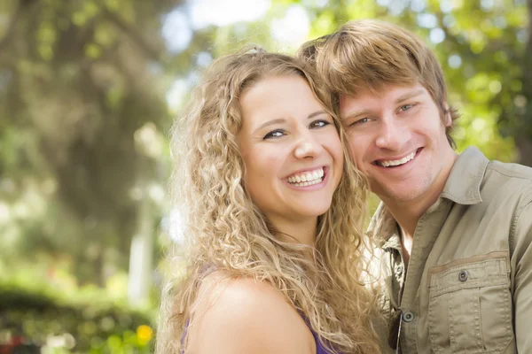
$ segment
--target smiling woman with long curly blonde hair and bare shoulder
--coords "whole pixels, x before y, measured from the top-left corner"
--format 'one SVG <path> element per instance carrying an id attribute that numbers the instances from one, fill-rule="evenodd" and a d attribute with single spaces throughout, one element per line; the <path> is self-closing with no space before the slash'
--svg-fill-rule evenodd
<path id="1" fill-rule="evenodd" d="M 379 352 L 357 281 L 365 187 L 320 96 L 311 68 L 262 50 L 218 59 L 195 90 L 174 131 L 190 250 L 158 353 Z"/>

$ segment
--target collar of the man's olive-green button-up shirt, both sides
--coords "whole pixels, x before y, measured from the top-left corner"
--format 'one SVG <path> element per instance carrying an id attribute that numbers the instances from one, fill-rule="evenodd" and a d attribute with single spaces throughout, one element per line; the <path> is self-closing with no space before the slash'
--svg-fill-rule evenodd
<path id="1" fill-rule="evenodd" d="M 480 204 L 481 183 L 488 167 L 489 159 L 475 147 L 469 147 L 462 152 L 450 170 L 449 177 L 443 187 L 442 194 L 433 206 L 440 204 L 442 198 L 447 198 L 457 204 Z M 381 248 L 397 247 L 397 223 L 384 203 L 380 202 L 373 214 L 367 235 Z M 400 245 L 399 245 L 400 246 Z"/>

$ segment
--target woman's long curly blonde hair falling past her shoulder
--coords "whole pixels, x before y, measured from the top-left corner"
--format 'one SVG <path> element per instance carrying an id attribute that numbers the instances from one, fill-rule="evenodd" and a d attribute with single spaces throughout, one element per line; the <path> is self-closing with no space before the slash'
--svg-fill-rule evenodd
<path id="1" fill-rule="evenodd" d="M 331 208 L 318 218 L 314 257 L 309 257 L 308 246 L 283 242 L 246 192 L 246 166 L 237 142 L 242 127 L 239 99 L 262 78 L 286 75 L 305 79 L 323 104 L 320 97 L 325 95 L 309 65 L 251 50 L 217 59 L 193 92 L 183 119 L 176 121 L 172 194 L 184 206 L 189 247 L 186 258 L 176 250 L 168 255 L 174 269 L 162 294 L 158 353 L 186 352 L 185 330 L 207 268 L 231 278 L 269 282 L 307 319 L 320 341 L 335 350 L 380 351 L 371 321 L 374 300 L 359 281 L 367 269 L 362 230 L 366 181 L 349 162 L 347 150 Z"/>

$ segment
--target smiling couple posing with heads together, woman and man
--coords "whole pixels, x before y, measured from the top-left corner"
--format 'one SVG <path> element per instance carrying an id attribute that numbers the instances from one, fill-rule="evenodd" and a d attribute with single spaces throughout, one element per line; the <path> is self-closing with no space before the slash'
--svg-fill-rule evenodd
<path id="1" fill-rule="evenodd" d="M 455 152 L 440 65 L 401 27 L 298 57 L 218 59 L 176 124 L 191 249 L 157 351 L 532 352 L 532 170 Z"/>

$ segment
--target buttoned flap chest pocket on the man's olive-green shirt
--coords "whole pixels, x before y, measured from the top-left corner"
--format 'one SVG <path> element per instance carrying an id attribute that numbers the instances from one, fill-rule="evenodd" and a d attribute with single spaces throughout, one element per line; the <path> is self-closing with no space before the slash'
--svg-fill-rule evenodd
<path id="1" fill-rule="evenodd" d="M 512 341 L 507 251 L 429 270 L 428 332 L 436 353 L 500 353 Z"/>

